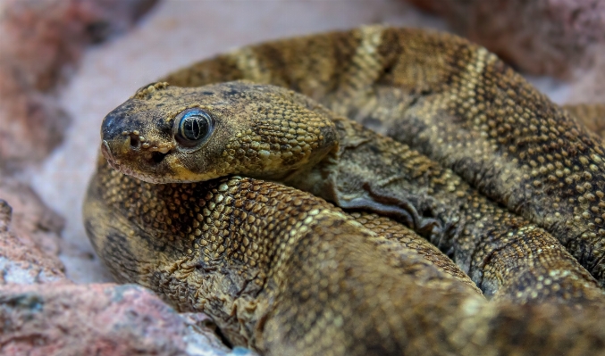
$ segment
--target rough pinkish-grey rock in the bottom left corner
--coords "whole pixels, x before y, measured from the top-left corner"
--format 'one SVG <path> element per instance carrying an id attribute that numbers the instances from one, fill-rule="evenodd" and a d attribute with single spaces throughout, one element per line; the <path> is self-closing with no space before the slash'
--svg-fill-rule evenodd
<path id="1" fill-rule="evenodd" d="M 3 286 L 0 321 L 6 355 L 246 354 L 231 353 L 203 314 L 178 314 L 134 285 Z"/>

